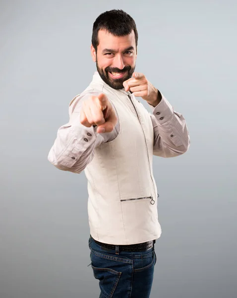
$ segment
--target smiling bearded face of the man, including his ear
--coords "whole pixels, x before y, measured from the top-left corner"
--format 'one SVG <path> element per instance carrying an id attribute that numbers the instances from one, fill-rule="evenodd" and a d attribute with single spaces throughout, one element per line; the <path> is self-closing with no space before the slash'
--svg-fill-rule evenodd
<path id="1" fill-rule="evenodd" d="M 97 53 L 91 46 L 97 71 L 109 86 L 122 89 L 123 81 L 130 78 L 135 70 L 135 34 L 132 31 L 125 36 L 114 36 L 105 30 L 99 30 L 98 40 Z"/>

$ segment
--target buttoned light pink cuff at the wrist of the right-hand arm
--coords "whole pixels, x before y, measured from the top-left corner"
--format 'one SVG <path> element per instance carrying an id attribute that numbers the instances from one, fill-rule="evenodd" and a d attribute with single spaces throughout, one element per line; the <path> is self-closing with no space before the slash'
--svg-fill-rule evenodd
<path id="1" fill-rule="evenodd" d="M 162 99 L 157 106 L 153 107 L 150 104 L 149 106 L 151 107 L 153 115 L 156 117 L 159 124 L 162 125 L 172 118 L 174 114 L 174 109 L 172 105 L 169 103 L 169 101 L 165 98 L 165 96 L 162 93 L 161 95 Z"/>

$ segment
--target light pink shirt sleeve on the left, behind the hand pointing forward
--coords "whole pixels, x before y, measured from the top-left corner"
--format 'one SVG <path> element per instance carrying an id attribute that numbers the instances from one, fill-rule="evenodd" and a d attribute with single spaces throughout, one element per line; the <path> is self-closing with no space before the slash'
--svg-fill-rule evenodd
<path id="1" fill-rule="evenodd" d="M 111 133 L 104 134 L 98 134 L 96 127 L 87 128 L 80 123 L 82 102 L 88 96 L 98 94 L 87 93 L 84 96 L 75 96 L 71 100 L 69 104 L 69 122 L 59 127 L 57 138 L 48 154 L 48 160 L 60 170 L 74 173 L 82 172 L 92 161 L 94 149 L 117 137 L 119 120 Z"/>

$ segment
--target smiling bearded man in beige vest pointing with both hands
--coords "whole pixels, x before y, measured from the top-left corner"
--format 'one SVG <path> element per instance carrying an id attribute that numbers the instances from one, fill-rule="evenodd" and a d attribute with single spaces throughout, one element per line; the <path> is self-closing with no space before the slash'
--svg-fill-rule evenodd
<path id="1" fill-rule="evenodd" d="M 85 169 L 100 298 L 150 296 L 154 243 L 161 235 L 152 156 L 178 156 L 189 147 L 183 116 L 144 74 L 134 72 L 137 40 L 135 22 L 124 11 L 98 16 L 91 45 L 98 72 L 70 102 L 70 120 L 59 128 L 48 156 L 61 170 Z"/>

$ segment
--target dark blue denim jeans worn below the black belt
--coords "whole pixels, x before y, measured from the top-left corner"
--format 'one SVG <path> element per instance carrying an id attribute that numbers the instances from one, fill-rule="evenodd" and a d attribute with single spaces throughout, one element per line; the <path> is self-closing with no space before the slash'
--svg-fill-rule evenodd
<path id="1" fill-rule="evenodd" d="M 99 298 L 149 298 L 153 282 L 156 253 L 126 252 L 107 249 L 90 236 L 91 267 L 99 280 Z"/>

